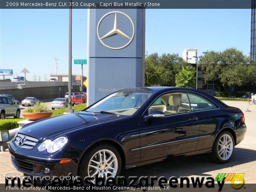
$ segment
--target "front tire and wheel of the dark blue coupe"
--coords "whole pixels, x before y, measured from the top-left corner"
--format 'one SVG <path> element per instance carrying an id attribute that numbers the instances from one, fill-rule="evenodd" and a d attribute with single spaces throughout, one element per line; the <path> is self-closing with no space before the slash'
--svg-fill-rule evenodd
<path id="1" fill-rule="evenodd" d="M 106 155 L 105 161 L 104 161 L 103 151 L 105 152 L 105 155 Z M 110 155 L 111 153 L 114 155 L 108 160 L 108 158 L 111 156 Z M 104 161 L 104 162 L 100 161 L 99 154 L 101 154 L 102 161 Z M 91 159 L 93 159 L 94 162 L 98 162 L 98 164 L 92 162 Z M 110 164 L 108 164 L 108 163 L 110 163 Z M 91 166 L 89 167 L 89 164 L 94 167 L 91 167 Z M 101 165 L 101 167 L 100 167 L 100 165 Z M 113 167 L 115 170 L 112 169 Z M 111 177 L 116 178 L 117 176 L 120 175 L 121 168 L 122 168 L 122 162 L 121 162 L 121 156 L 120 156 L 118 150 L 110 144 L 101 143 L 101 144 L 98 144 L 98 145 L 94 146 L 93 148 L 89 149 L 86 152 L 86 155 L 84 155 L 82 157 L 79 167 L 78 167 L 78 175 L 81 176 L 82 178 L 84 178 L 86 176 L 95 177 L 97 174 L 98 174 L 99 178 L 103 176 L 103 178 L 105 179 L 106 175 L 107 175 L 107 177 L 111 176 Z M 92 171 L 92 172 L 89 173 L 90 171 Z M 97 172 L 97 174 L 96 174 L 96 172 Z M 110 174 L 109 172 L 112 172 L 112 174 Z M 93 175 L 95 175 L 95 176 L 93 176 Z M 92 180 L 92 183 L 94 183 L 94 182 L 95 182 L 95 179 Z"/>

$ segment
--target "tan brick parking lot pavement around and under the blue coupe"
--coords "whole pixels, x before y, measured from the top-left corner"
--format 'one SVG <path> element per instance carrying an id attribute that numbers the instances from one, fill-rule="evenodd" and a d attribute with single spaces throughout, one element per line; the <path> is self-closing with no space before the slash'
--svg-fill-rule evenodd
<path id="1" fill-rule="evenodd" d="M 240 108 L 245 115 L 247 132 L 244 140 L 234 150 L 234 156 L 226 164 L 215 164 L 206 155 L 175 157 L 170 160 L 130 168 L 122 172 L 124 176 L 187 176 L 216 177 L 218 173 L 245 173 L 244 181 L 256 183 L 256 105 L 250 106 L 252 112 L 245 112 L 247 102 L 225 101 L 230 106 Z M 9 152 L 0 152 L 0 183 L 4 183 L 7 173 L 19 173 L 11 164 Z"/>

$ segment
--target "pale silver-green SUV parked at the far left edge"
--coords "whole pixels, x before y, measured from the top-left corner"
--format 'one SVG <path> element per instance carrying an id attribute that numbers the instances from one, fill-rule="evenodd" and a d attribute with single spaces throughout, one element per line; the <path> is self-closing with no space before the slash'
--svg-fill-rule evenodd
<path id="1" fill-rule="evenodd" d="M 0 96 L 0 119 L 4 119 L 7 116 L 13 116 L 14 118 L 20 118 L 20 107 L 12 101 L 10 97 Z"/>

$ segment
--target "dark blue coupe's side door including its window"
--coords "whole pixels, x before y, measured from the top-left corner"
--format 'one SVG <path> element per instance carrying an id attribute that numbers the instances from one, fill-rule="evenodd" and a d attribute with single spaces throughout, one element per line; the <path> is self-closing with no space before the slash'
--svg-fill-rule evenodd
<path id="1" fill-rule="evenodd" d="M 160 110 L 164 112 L 165 117 L 143 121 L 140 124 L 141 161 L 196 150 L 200 122 L 191 113 L 186 92 L 170 92 L 159 98 L 161 104 L 156 104 L 156 100 L 144 115 L 152 110 Z"/>

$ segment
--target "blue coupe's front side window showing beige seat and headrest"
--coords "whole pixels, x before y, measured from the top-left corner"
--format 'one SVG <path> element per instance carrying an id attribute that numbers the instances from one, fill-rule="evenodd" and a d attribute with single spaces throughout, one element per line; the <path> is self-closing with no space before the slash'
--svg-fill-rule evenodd
<path id="1" fill-rule="evenodd" d="M 169 93 L 158 98 L 149 108 L 152 111 L 161 111 L 165 115 L 190 112 L 190 105 L 186 93 Z"/>

